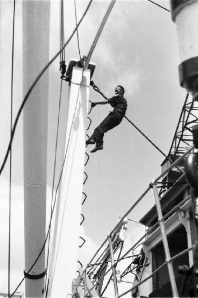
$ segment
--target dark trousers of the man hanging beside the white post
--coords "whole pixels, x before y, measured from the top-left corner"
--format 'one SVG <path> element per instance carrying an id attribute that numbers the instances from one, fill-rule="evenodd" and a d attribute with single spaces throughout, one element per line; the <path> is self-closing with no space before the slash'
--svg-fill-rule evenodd
<path id="1" fill-rule="evenodd" d="M 118 111 L 110 112 L 109 115 L 95 128 L 89 139 L 94 140 L 96 146 L 103 144 L 104 133 L 119 125 L 123 119 L 123 115 Z"/>

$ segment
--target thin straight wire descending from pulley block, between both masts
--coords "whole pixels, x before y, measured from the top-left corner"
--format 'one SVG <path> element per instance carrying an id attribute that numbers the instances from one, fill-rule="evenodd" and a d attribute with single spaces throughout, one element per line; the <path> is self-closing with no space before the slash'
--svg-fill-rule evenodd
<path id="1" fill-rule="evenodd" d="M 58 122 L 57 122 L 55 158 L 54 158 L 54 171 L 53 171 L 53 182 L 52 182 L 51 216 L 52 216 L 52 209 L 53 209 L 53 195 L 54 195 L 54 184 L 55 184 L 55 173 L 56 173 L 56 162 L 57 162 L 57 147 L 58 147 L 58 137 L 59 137 L 59 123 L 60 123 L 60 110 L 61 110 L 61 99 L 62 99 L 62 85 L 63 85 L 63 80 L 61 80 L 60 97 L 59 97 L 59 113 L 58 113 Z M 50 231 L 49 231 L 49 238 L 48 238 L 48 253 L 47 253 L 46 272 L 48 272 L 51 223 L 50 223 L 49 228 L 50 228 Z M 47 278 L 45 280 L 45 289 L 46 289 L 46 284 L 47 284 Z"/>

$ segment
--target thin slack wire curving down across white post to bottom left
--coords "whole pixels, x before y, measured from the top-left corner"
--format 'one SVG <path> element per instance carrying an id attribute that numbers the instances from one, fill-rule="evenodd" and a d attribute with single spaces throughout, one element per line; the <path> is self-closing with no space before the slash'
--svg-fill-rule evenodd
<path id="1" fill-rule="evenodd" d="M 59 55 L 59 53 L 58 53 Z M 83 73 L 82 72 L 82 79 L 83 79 Z M 80 83 L 80 86 L 82 84 L 82 80 L 81 80 L 81 83 Z M 80 88 L 80 87 L 79 87 Z M 72 131 L 72 126 L 73 126 L 73 121 L 74 121 L 74 117 L 75 117 L 75 112 L 76 112 L 76 107 L 77 107 L 77 102 L 78 102 L 78 98 L 76 100 L 76 105 L 75 105 L 75 110 L 74 110 L 74 113 L 73 113 L 73 117 L 72 117 L 72 122 L 71 122 L 71 127 L 70 127 L 70 131 L 69 131 L 69 136 L 68 136 L 68 142 L 67 142 L 67 146 L 66 146 L 66 153 L 65 153 L 65 157 L 64 157 L 64 161 L 63 161 L 63 164 L 62 164 L 62 169 L 61 169 L 61 174 L 60 174 L 60 177 L 59 177 L 59 182 L 58 182 L 58 185 L 57 185 L 57 188 L 56 188 L 56 193 L 55 193 L 55 200 L 54 200 L 54 205 L 53 205 L 53 209 L 52 209 L 52 214 L 51 214 L 51 217 L 50 217 L 50 224 L 49 224 L 49 227 L 48 227 L 48 231 L 47 231 L 47 235 L 46 235 L 46 238 L 45 238 L 45 241 L 44 241 L 44 244 L 41 248 L 41 251 L 40 253 L 38 254 L 38 257 L 36 258 L 36 260 L 34 261 L 34 263 L 32 264 L 32 266 L 30 267 L 30 269 L 28 270 L 27 273 L 29 273 L 32 268 L 34 267 L 34 265 L 36 264 L 36 262 L 38 261 L 38 259 L 40 258 L 44 248 L 45 248 L 45 245 L 46 245 L 46 242 L 47 242 L 47 239 L 48 239 L 48 236 L 49 236 L 49 232 L 50 232 L 50 226 L 51 226 L 51 223 L 52 223 L 52 217 L 53 217 L 53 214 L 54 214 L 54 210 L 55 210 L 55 204 L 56 204 L 56 197 L 57 197 L 57 192 L 58 192 L 58 189 L 59 189 L 59 185 L 60 185 L 60 181 L 61 181 L 61 178 L 62 178 L 62 175 L 63 175 L 63 169 L 64 169 L 64 165 L 65 165 L 65 161 L 66 161 L 66 156 L 67 156 L 67 149 L 68 149 L 68 145 L 69 145 L 69 141 L 70 141 L 70 136 L 71 136 L 71 131 Z M 14 295 L 14 293 L 18 290 L 18 288 L 20 287 L 20 285 L 22 284 L 22 282 L 25 280 L 25 277 L 22 278 L 22 280 L 20 281 L 20 283 L 18 284 L 18 286 L 16 287 L 16 289 L 14 290 L 14 292 L 11 294 L 10 298 Z"/>

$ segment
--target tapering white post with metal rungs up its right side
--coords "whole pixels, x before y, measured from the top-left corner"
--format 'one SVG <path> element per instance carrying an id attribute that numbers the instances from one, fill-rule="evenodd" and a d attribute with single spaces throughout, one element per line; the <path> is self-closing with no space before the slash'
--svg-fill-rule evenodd
<path id="1" fill-rule="evenodd" d="M 77 66 L 75 66 L 77 65 Z M 94 68 L 94 66 L 93 66 Z M 89 100 L 90 70 L 83 71 L 77 61 L 69 64 L 72 77 L 69 87 L 69 109 L 66 128 L 66 161 L 61 185 L 59 222 L 56 227 L 56 267 L 51 259 L 48 297 L 66 297 L 76 275 L 80 211 L 82 201 L 86 118 Z M 68 146 L 67 146 L 68 144 Z M 67 151 L 67 152 L 66 152 Z M 54 256 L 53 256 L 54 258 Z M 54 280 L 52 283 L 52 272 Z"/>

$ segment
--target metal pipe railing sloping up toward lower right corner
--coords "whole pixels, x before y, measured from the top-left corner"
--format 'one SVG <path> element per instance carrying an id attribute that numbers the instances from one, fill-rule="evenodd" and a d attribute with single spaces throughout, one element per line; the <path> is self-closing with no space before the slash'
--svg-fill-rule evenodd
<path id="1" fill-rule="evenodd" d="M 173 162 L 162 174 L 160 174 L 156 179 L 152 180 L 151 183 L 149 184 L 149 187 L 143 192 L 143 194 L 136 200 L 136 202 L 132 205 L 132 207 L 124 214 L 124 216 L 121 218 L 120 222 L 113 228 L 113 230 L 109 233 L 109 235 L 107 236 L 107 238 L 104 240 L 104 242 L 101 244 L 101 246 L 98 248 L 98 250 L 96 251 L 96 253 L 94 254 L 94 256 L 92 257 L 92 259 L 90 260 L 90 262 L 87 264 L 86 268 L 83 270 L 83 272 L 80 275 L 80 278 L 83 279 L 83 275 L 86 272 L 86 274 L 88 274 L 88 276 L 90 276 L 91 271 L 94 269 L 94 266 L 97 266 L 99 261 L 102 259 L 102 256 L 104 255 L 104 253 L 107 251 L 107 249 L 110 249 L 110 255 L 111 255 L 111 266 L 110 268 L 108 268 L 108 270 L 106 270 L 105 273 L 103 273 L 99 280 L 92 282 L 92 287 L 88 289 L 88 292 L 91 293 L 91 291 L 96 288 L 96 286 L 100 283 L 100 281 L 102 279 L 104 279 L 104 277 L 110 272 L 112 271 L 113 274 L 113 282 L 114 282 L 114 292 L 115 292 L 115 298 L 120 298 L 125 296 L 126 294 L 128 294 L 129 292 L 131 292 L 132 290 L 134 290 L 135 288 L 137 288 L 138 286 L 140 286 L 141 284 L 143 284 L 144 282 L 146 282 L 148 279 L 150 279 L 151 277 L 153 277 L 162 267 L 164 267 L 165 265 L 167 265 L 168 268 L 168 274 L 169 274 L 169 279 L 170 279 L 170 284 L 171 284 L 171 289 L 172 289 L 172 294 L 173 297 L 178 297 L 178 290 L 177 290 L 177 286 L 176 286 L 176 281 L 175 281 L 175 275 L 174 275 L 174 271 L 173 271 L 173 266 L 172 266 L 172 262 L 173 260 L 179 258 L 181 255 L 189 252 L 190 250 L 192 250 L 195 245 L 193 245 L 192 247 L 178 253 L 177 255 L 175 255 L 174 257 L 170 257 L 170 250 L 169 250 L 169 245 L 168 245 L 168 240 L 167 240 L 167 235 L 166 235 L 166 231 L 165 231 L 165 225 L 164 222 L 165 220 L 170 217 L 170 215 L 172 215 L 173 213 L 177 212 L 179 209 L 181 209 L 181 206 L 184 206 L 187 201 L 190 200 L 190 196 L 188 196 L 187 198 L 183 199 L 179 204 L 177 204 L 176 206 L 174 206 L 168 213 L 166 213 L 164 216 L 162 216 L 162 208 L 161 208 L 161 204 L 160 204 L 160 198 L 158 195 L 158 190 L 157 190 L 157 183 L 158 181 L 164 176 L 164 174 L 168 173 L 174 166 L 176 166 L 182 159 L 185 158 L 185 156 L 187 156 L 192 150 L 194 149 L 194 146 L 192 146 L 190 149 L 188 149 L 183 155 L 181 155 L 175 162 Z M 184 175 L 184 174 L 183 174 Z M 183 176 L 182 175 L 182 176 Z M 180 177 L 181 178 L 181 177 Z M 134 209 L 134 207 L 145 197 L 145 195 L 151 190 L 153 189 L 153 194 L 155 197 L 155 206 L 156 206 L 156 210 L 157 210 L 157 216 L 158 216 L 158 222 L 156 224 L 154 224 L 149 230 L 147 230 L 146 233 L 144 233 L 144 235 L 134 244 L 132 245 L 132 247 L 125 253 L 123 254 L 123 256 L 121 256 L 119 259 L 117 259 L 116 261 L 114 260 L 114 253 L 113 253 L 113 249 L 112 249 L 112 236 L 115 235 L 116 230 L 119 228 L 119 226 L 122 224 L 123 220 L 131 213 L 131 211 Z M 171 188 L 170 188 L 171 189 Z M 164 246 L 164 252 L 165 252 L 165 262 L 158 267 L 155 271 L 152 272 L 152 274 L 150 274 L 148 277 L 146 277 L 145 279 L 141 280 L 140 282 L 136 283 L 131 289 L 129 289 L 127 292 L 122 293 L 121 295 L 119 295 L 118 293 L 118 286 L 117 286 L 117 279 L 116 279 L 116 271 L 115 268 L 117 266 L 117 264 L 119 262 L 121 262 L 132 250 L 134 250 L 137 246 L 139 246 L 139 244 L 141 244 L 141 241 L 143 239 L 145 239 L 145 237 L 147 235 L 150 235 L 151 232 L 153 232 L 157 227 L 160 228 L 161 231 L 161 236 L 162 236 L 162 243 Z M 104 245 L 107 243 L 107 247 L 102 251 L 102 248 L 104 247 Z M 98 257 L 98 254 L 100 252 L 100 255 Z M 97 258 L 96 258 L 97 257 Z M 94 262 L 96 258 L 96 261 Z M 85 274 L 85 275 L 86 275 Z M 88 277 L 87 277 L 88 278 Z M 86 279 L 87 279 L 86 278 Z M 86 285 L 86 279 L 83 279 L 84 282 L 84 287 L 87 289 L 87 285 Z M 72 297 L 75 297 L 75 293 L 77 290 L 78 285 L 76 285 L 73 288 L 72 291 Z M 86 297 L 86 291 L 84 292 Z M 99 296 L 98 296 L 99 297 Z"/>

